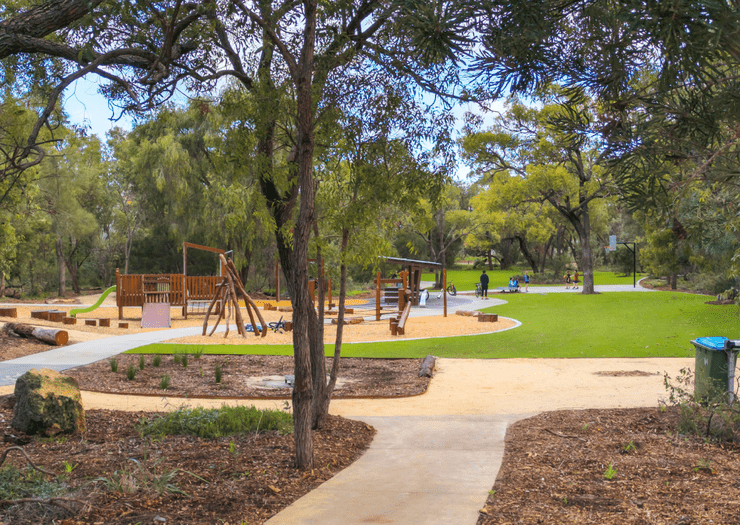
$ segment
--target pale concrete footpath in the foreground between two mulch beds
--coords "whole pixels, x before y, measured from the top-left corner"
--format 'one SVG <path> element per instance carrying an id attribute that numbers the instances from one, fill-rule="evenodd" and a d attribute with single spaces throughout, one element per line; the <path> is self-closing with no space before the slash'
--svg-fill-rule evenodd
<path id="1" fill-rule="evenodd" d="M 473 525 L 515 416 L 362 417 L 378 430 L 351 467 L 269 525 Z"/>

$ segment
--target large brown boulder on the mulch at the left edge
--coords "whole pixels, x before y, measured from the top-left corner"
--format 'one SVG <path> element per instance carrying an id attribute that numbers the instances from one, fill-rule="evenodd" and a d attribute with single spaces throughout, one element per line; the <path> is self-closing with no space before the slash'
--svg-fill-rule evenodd
<path id="1" fill-rule="evenodd" d="M 85 431 L 77 380 L 54 370 L 29 370 L 15 382 L 14 429 L 55 436 Z"/>

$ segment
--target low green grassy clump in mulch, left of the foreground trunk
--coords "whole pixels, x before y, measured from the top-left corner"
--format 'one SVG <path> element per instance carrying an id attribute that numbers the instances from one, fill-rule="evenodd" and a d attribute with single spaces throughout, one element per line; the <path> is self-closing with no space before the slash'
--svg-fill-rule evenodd
<path id="1" fill-rule="evenodd" d="M 220 438 L 276 430 L 293 432 L 293 418 L 280 410 L 258 410 L 255 407 L 181 408 L 151 419 L 142 418 L 137 430 L 144 436 L 191 435 Z"/>

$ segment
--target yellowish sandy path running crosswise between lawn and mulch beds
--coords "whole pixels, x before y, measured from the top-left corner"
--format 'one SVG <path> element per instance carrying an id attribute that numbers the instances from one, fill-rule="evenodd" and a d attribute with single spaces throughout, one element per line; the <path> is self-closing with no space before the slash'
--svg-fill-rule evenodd
<path id="1" fill-rule="evenodd" d="M 331 413 L 343 416 L 530 414 L 549 410 L 656 406 L 665 398 L 663 373 L 675 377 L 692 358 L 654 359 L 440 359 L 426 394 L 401 399 L 338 399 Z M 634 372 L 650 375 L 597 375 Z M 10 393 L 13 387 L 0 388 Z M 83 392 L 86 409 L 172 410 L 219 407 L 215 399 L 118 396 Z M 285 401 L 230 404 L 285 408 Z"/>

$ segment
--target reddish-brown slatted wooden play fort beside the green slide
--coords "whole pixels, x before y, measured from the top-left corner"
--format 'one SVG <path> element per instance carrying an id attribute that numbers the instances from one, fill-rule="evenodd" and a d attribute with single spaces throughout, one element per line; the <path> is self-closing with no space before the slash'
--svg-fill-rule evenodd
<path id="1" fill-rule="evenodd" d="M 124 307 L 141 307 L 143 314 L 144 305 L 154 303 L 181 306 L 182 315 L 186 319 L 188 313 L 206 313 L 206 307 L 215 296 L 216 288 L 224 280 L 224 264 L 219 268 L 220 275 L 188 276 L 187 250 L 204 250 L 217 253 L 219 257 L 226 252 L 189 242 L 182 245 L 183 273 L 122 275 L 116 268 L 116 306 L 119 320 L 123 319 Z"/>

